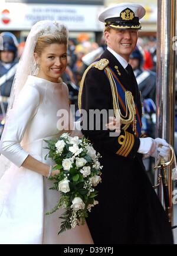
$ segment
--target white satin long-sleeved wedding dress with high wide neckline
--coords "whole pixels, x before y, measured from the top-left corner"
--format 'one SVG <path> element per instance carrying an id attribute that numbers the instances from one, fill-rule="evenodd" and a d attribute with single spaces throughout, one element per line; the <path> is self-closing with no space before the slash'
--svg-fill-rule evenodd
<path id="1" fill-rule="evenodd" d="M 1 140 L 5 157 L 1 155 L 0 163 L 0 244 L 93 244 L 87 224 L 57 235 L 63 210 L 51 215 L 45 212 L 58 202 L 59 193 L 49 190 L 52 181 L 21 167 L 28 154 L 52 164 L 49 158 L 44 160 L 44 139 L 68 130 L 68 124 L 64 130 L 58 122 L 59 109 L 70 113 L 67 86 L 28 76 Z M 7 158 L 12 163 L 4 173 Z"/>

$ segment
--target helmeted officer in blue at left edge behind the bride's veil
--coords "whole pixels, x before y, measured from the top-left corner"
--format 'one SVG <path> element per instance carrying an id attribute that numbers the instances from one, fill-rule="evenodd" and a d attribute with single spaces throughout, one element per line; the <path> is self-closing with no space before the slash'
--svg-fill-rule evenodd
<path id="1" fill-rule="evenodd" d="M 17 47 L 18 41 L 14 34 L 10 32 L 0 34 L 0 137 L 4 126 L 5 113 L 15 71 L 17 69 Z"/>

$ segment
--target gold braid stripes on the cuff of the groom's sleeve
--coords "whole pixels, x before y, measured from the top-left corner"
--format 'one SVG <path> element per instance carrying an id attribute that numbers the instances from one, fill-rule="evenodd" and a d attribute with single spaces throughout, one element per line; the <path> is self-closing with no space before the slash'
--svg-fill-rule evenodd
<path id="1" fill-rule="evenodd" d="M 123 138 L 123 141 L 121 140 Z M 122 145 L 121 148 L 116 152 L 116 154 L 122 155 L 123 157 L 127 157 L 127 155 L 132 150 L 132 147 L 135 142 L 135 138 L 133 134 L 130 132 L 124 131 L 124 135 L 120 135 L 118 138 L 118 142 Z"/>

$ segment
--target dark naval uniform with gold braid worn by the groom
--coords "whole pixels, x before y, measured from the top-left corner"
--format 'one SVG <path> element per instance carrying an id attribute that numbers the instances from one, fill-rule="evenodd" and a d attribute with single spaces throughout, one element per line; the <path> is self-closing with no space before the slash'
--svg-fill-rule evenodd
<path id="1" fill-rule="evenodd" d="M 89 129 L 87 115 L 87 127 L 82 132 L 102 155 L 100 162 L 103 165 L 102 182 L 96 187 L 99 205 L 91 210 L 87 223 L 95 244 L 172 244 L 168 218 L 146 174 L 142 154 L 137 153 L 142 136 L 142 105 L 136 79 L 133 70 L 127 73 L 126 61 L 120 56 L 118 61 L 116 54 L 110 51 L 110 48 L 105 50 L 98 61 L 109 61 L 105 66 L 117 86 L 119 108 L 124 116 L 125 93 L 132 92 L 136 129 L 134 127 L 133 131 L 132 123 L 126 129 L 122 124 L 120 135 L 110 137 L 110 131 L 104 129 L 103 119 L 98 121 L 103 126 L 100 130 L 96 130 L 97 119 L 93 129 Z M 101 70 L 92 66 L 85 74 L 78 101 L 87 114 L 89 109 L 113 109 L 113 93 L 106 67 Z M 83 122 L 86 121 L 84 118 Z"/>

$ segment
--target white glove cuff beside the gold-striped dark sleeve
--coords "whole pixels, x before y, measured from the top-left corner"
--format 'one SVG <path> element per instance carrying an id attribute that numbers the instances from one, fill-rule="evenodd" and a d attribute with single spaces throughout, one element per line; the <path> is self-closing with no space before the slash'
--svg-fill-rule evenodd
<path id="1" fill-rule="evenodd" d="M 156 142 L 153 138 L 140 138 L 138 153 L 152 155 L 156 150 Z"/>

